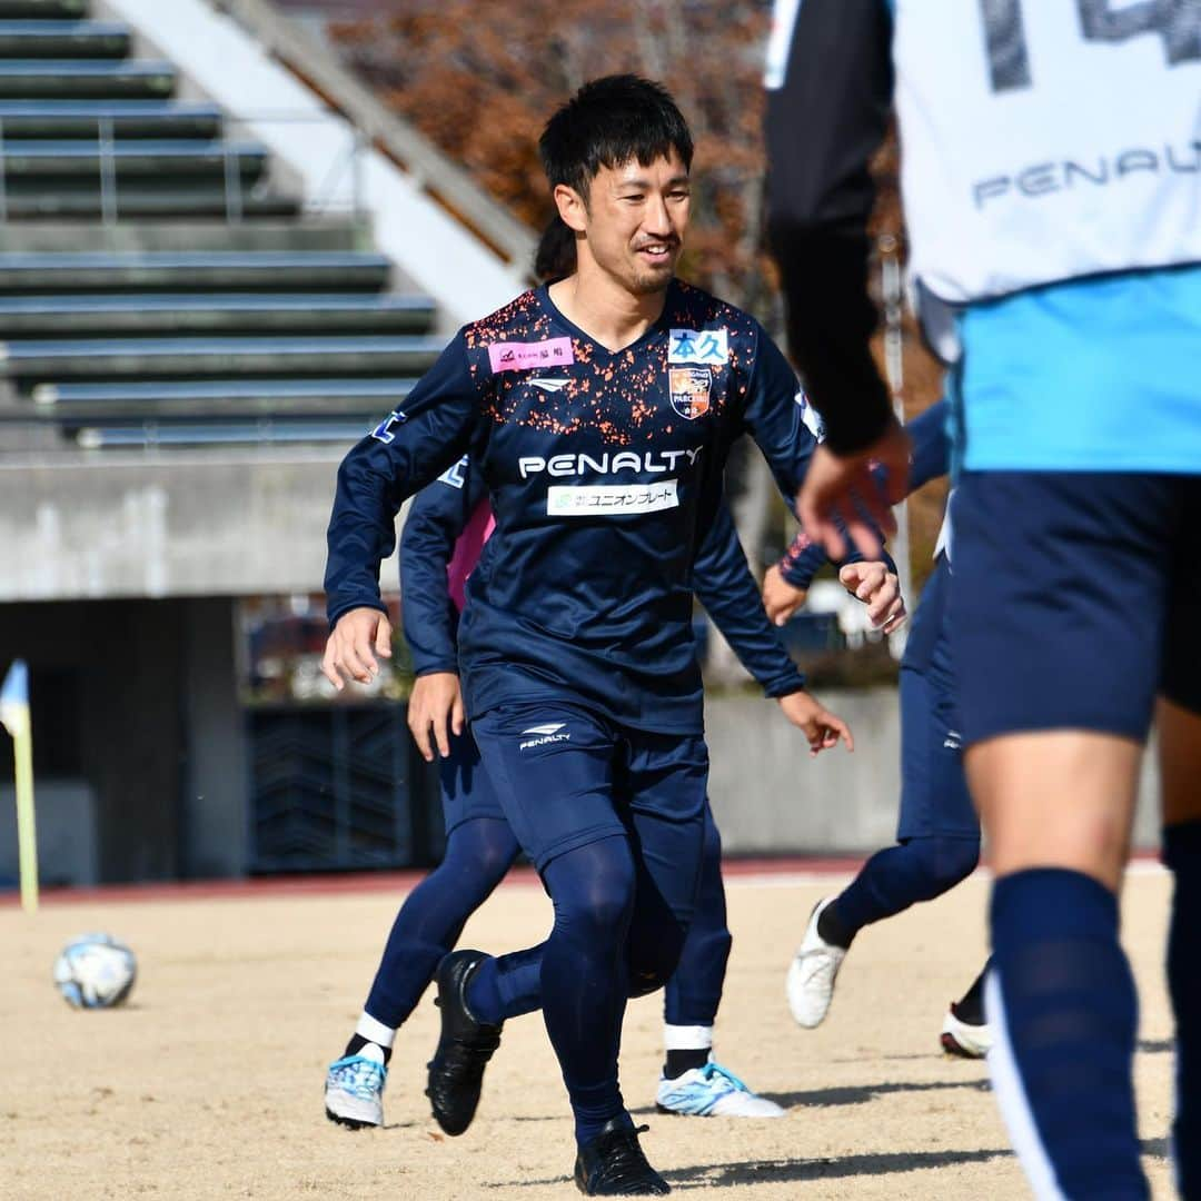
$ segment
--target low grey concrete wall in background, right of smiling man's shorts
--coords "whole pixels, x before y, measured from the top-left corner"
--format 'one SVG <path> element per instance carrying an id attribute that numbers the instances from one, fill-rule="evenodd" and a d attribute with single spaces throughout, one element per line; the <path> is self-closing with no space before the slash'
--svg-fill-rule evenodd
<path id="1" fill-rule="evenodd" d="M 728 854 L 867 854 L 896 837 L 901 722 L 896 689 L 823 692 L 855 735 L 809 759 L 775 701 L 711 697 L 710 797 Z M 1154 755 L 1143 764 L 1135 844 L 1158 846 Z"/>

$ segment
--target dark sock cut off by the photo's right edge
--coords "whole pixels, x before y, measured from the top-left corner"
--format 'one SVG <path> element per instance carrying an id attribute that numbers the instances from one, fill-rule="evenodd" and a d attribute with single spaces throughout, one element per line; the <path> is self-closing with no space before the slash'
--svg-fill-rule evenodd
<path id="1" fill-rule="evenodd" d="M 1167 934 L 1167 988 L 1176 1014 L 1172 1157 L 1182 1197 L 1201 1197 L 1201 820 L 1164 829 L 1164 862 L 1176 877 Z"/>

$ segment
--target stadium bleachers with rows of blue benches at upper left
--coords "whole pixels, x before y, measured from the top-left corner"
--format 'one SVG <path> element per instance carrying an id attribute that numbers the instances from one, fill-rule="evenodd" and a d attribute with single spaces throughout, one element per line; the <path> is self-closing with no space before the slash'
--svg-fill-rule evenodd
<path id="1" fill-rule="evenodd" d="M 89 452 L 353 441 L 441 349 L 432 301 L 135 49 L 86 0 L 0 0 L 0 416 Z"/>

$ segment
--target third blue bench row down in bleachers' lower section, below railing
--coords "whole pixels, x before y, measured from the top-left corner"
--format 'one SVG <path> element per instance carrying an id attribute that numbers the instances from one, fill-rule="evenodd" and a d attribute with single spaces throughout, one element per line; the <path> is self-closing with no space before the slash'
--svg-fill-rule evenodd
<path id="1" fill-rule="evenodd" d="M 18 387 L 68 381 L 240 376 L 419 376 L 444 342 L 422 336 L 108 337 L 0 342 L 0 374 Z"/>

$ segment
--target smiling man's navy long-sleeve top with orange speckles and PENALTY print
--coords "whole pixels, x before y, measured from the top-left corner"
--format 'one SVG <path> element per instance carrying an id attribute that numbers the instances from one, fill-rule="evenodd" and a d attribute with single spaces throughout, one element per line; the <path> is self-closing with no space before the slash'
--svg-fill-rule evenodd
<path id="1" fill-rule="evenodd" d="M 545 287 L 526 292 L 460 330 L 404 411 L 343 460 L 329 619 L 382 607 L 396 512 L 470 453 L 496 533 L 459 629 L 468 711 L 567 699 L 634 728 L 700 733 L 693 562 L 743 432 L 795 494 L 817 444 L 796 398 L 759 323 L 680 281 L 616 352 Z"/>

